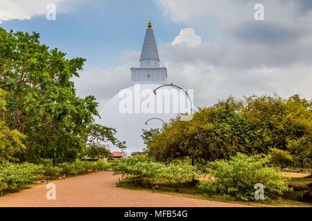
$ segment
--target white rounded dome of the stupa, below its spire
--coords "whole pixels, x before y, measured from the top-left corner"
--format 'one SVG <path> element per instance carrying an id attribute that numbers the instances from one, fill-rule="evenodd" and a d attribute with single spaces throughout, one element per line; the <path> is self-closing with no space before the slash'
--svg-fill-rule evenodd
<path id="1" fill-rule="evenodd" d="M 162 85 L 135 84 L 125 88 L 100 111 L 99 124 L 115 128 L 116 137 L 126 142 L 127 152 L 145 148 L 142 129 L 161 128 L 177 114 L 190 111 L 190 102 L 183 90 L 161 88 L 155 95 L 153 90 L 159 86 Z"/>

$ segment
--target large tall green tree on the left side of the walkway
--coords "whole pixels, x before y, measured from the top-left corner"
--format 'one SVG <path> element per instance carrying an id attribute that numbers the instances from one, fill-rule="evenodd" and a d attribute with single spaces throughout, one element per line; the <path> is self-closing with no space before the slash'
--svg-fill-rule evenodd
<path id="1" fill-rule="evenodd" d="M 67 59 L 57 48 L 40 44 L 39 38 L 35 32 L 0 28 L 0 88 L 8 92 L 8 111 L 2 119 L 27 136 L 19 159 L 73 160 L 85 147 L 98 115 L 95 98 L 78 97 L 71 81 L 79 77 L 85 59 Z"/>

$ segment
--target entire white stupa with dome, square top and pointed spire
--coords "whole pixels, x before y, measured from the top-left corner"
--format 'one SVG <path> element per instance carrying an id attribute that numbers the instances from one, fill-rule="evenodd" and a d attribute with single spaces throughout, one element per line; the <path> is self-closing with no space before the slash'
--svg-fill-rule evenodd
<path id="1" fill-rule="evenodd" d="M 102 119 L 99 124 L 116 129 L 116 137 L 126 142 L 127 153 L 145 148 L 141 139 L 142 129 L 160 128 L 177 113 L 189 112 L 190 103 L 184 91 L 159 88 L 167 84 L 167 69 L 159 67 L 159 63 L 155 36 L 149 22 L 139 68 L 130 68 L 132 85 L 112 97 L 100 111 Z M 154 92 L 156 88 L 159 88 L 157 93 Z M 146 125 L 148 119 L 151 120 Z M 111 146 L 112 150 L 114 148 Z"/>

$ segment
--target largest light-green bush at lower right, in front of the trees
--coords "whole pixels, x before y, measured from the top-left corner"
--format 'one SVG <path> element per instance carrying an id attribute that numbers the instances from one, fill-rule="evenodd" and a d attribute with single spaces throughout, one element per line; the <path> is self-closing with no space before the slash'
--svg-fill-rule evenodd
<path id="1" fill-rule="evenodd" d="M 214 181 L 202 180 L 198 188 L 206 193 L 232 195 L 239 200 L 254 200 L 255 184 L 263 184 L 265 200 L 279 198 L 290 191 L 282 174 L 266 166 L 268 158 L 248 157 L 237 153 L 229 161 L 218 160 L 209 164 Z"/>

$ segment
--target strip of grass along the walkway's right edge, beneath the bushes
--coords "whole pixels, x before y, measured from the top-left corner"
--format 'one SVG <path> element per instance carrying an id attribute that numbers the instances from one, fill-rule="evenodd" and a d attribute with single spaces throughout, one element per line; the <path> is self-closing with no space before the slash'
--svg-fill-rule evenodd
<path id="1" fill-rule="evenodd" d="M 284 195 L 284 198 L 280 200 L 270 200 L 270 201 L 261 201 L 260 202 L 244 202 L 241 200 L 236 200 L 230 196 L 224 197 L 221 194 L 215 195 L 207 195 L 206 193 L 202 193 L 199 189 L 196 188 L 194 184 L 188 183 L 184 184 L 178 191 L 168 184 L 164 183 L 157 183 L 155 184 L 155 193 L 162 193 L 168 195 L 179 195 L 188 198 L 196 198 L 201 200 L 211 200 L 211 201 L 218 201 L 218 202 L 231 202 L 236 204 L 242 205 L 249 205 L 249 206 L 266 206 L 266 207 L 312 207 L 312 204 L 306 202 L 300 202 L 299 199 L 304 193 L 304 188 L 306 187 L 307 183 L 312 182 L 312 177 L 298 177 L 298 175 L 286 175 L 289 177 L 288 183 L 291 186 L 296 186 L 300 191 L 293 191 L 291 193 L 287 193 Z M 293 178 L 291 178 L 293 177 Z M 140 191 L 149 191 L 152 192 L 152 189 L 148 189 L 147 187 L 139 187 L 135 184 L 132 184 L 130 181 L 124 179 L 121 180 L 118 184 L 119 187 L 125 189 L 133 189 L 133 190 L 140 190 Z"/>

